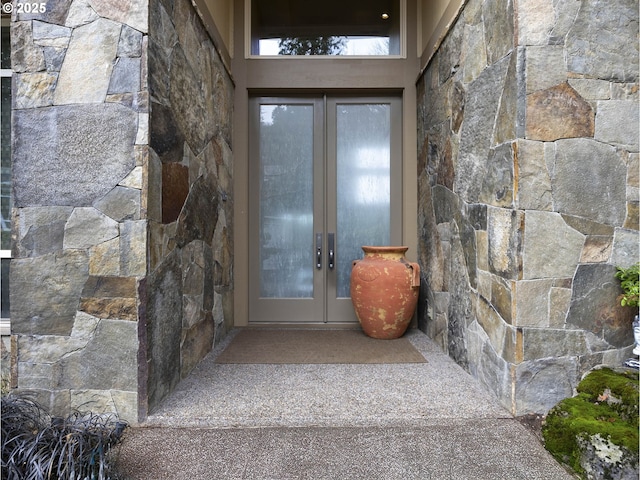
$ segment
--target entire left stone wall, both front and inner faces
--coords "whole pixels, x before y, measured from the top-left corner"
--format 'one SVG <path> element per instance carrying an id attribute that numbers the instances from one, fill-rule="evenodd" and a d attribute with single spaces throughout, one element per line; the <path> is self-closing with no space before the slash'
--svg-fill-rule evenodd
<path id="1" fill-rule="evenodd" d="M 12 384 L 137 422 L 232 322 L 233 86 L 188 0 L 11 28 Z"/>

